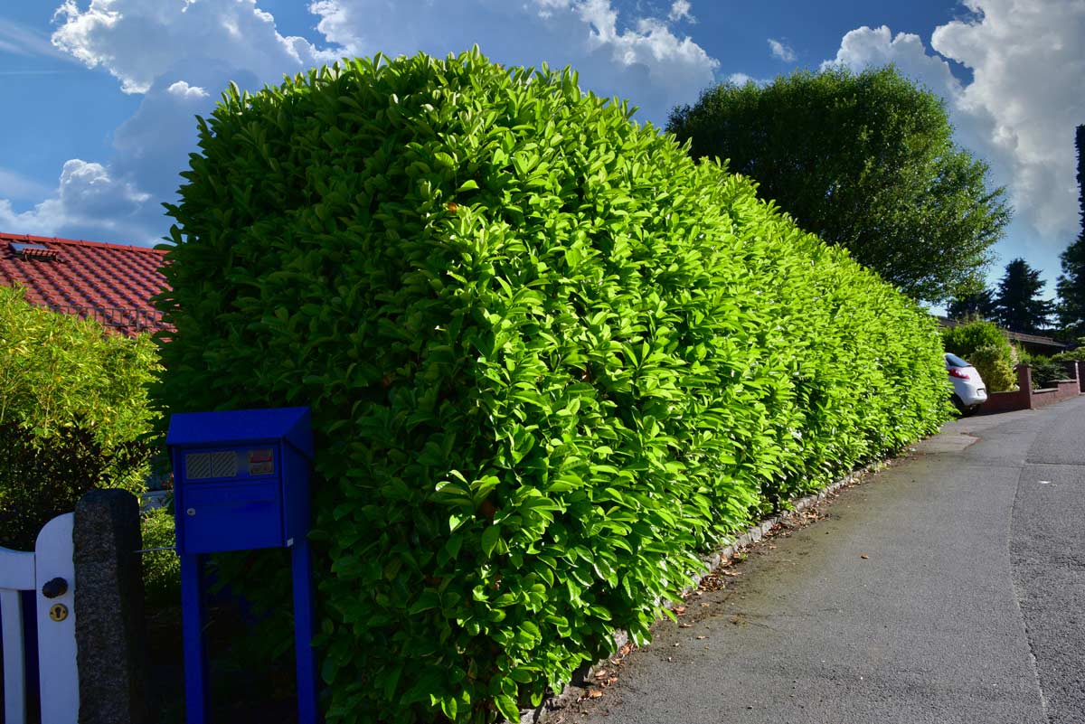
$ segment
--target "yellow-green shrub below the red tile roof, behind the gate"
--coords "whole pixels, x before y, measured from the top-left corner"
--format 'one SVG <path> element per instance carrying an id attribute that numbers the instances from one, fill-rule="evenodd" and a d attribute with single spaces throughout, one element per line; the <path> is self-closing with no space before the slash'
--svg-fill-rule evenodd
<path id="1" fill-rule="evenodd" d="M 29 550 L 92 488 L 143 490 L 157 367 L 145 335 L 35 307 L 0 286 L 0 545 Z"/>

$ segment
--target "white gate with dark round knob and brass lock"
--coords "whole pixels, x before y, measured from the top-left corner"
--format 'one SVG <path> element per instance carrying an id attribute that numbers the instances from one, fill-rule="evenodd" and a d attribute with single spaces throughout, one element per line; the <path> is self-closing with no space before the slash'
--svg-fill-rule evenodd
<path id="1" fill-rule="evenodd" d="M 4 722 L 26 722 L 26 650 L 20 591 L 36 592 L 41 724 L 72 724 L 79 713 L 75 648 L 73 514 L 53 518 L 38 533 L 34 553 L 0 548 L 0 617 L 3 618 Z M 63 579 L 66 591 L 47 598 L 41 587 Z M 55 592 L 53 592 L 55 593 Z"/>

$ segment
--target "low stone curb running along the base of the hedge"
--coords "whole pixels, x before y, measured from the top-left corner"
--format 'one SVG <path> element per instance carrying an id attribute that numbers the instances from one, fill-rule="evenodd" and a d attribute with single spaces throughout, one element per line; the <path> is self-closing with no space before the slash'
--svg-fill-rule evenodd
<path id="1" fill-rule="evenodd" d="M 904 457 L 910 452 L 914 452 L 915 448 L 908 447 L 905 452 L 901 454 L 899 457 Z M 791 520 L 797 517 L 799 514 L 807 510 L 820 501 L 833 495 L 838 491 L 853 486 L 860 481 L 868 474 L 877 473 L 885 467 L 893 464 L 897 457 L 885 458 L 881 461 L 876 461 L 869 465 L 860 467 L 852 473 L 848 473 L 844 477 L 834 480 L 816 493 L 810 493 L 809 495 L 804 495 L 802 497 L 796 497 L 791 501 L 791 508 L 788 510 L 782 510 L 774 516 L 763 519 L 761 522 L 754 523 L 735 538 L 730 543 L 724 547 L 701 556 L 701 561 L 704 564 L 704 571 L 701 573 L 694 573 L 690 577 L 690 585 L 682 589 L 681 595 L 686 596 L 697 589 L 701 583 L 701 580 L 715 571 L 720 564 L 726 563 L 735 557 L 735 555 L 741 553 L 743 550 L 750 547 L 754 543 L 761 541 L 765 535 L 768 534 L 774 528 L 779 526 L 786 520 Z M 671 609 L 675 604 L 671 602 L 665 602 L 663 604 L 664 608 Z M 655 622 L 659 623 L 663 619 L 656 619 Z M 553 717 L 561 713 L 569 704 L 575 702 L 582 698 L 583 693 L 586 690 L 586 684 L 591 681 L 591 674 L 595 670 L 611 665 L 610 659 L 618 656 L 620 650 L 623 646 L 629 643 L 629 634 L 624 629 L 618 629 L 614 632 L 614 648 L 613 652 L 607 658 L 600 659 L 599 661 L 588 664 L 585 663 L 579 669 L 573 672 L 572 681 L 565 685 L 565 687 L 558 694 L 552 694 L 542 699 L 542 702 L 535 707 L 534 709 L 522 709 L 520 711 L 520 720 L 516 723 L 503 720 L 501 724 L 558 724 L 558 720 Z"/>

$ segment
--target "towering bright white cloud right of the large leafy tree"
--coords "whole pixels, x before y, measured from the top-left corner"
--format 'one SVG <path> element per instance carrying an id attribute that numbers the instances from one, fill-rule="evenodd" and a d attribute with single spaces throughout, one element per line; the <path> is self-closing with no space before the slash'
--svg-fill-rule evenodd
<path id="1" fill-rule="evenodd" d="M 1004 257 L 1058 269 L 1077 229 L 1074 128 L 1085 122 L 1085 2 L 965 0 L 968 17 L 934 29 L 928 52 L 888 27 L 844 36 L 833 63 L 895 63 L 946 100 L 957 141 L 988 161 L 1016 209 Z M 946 59 L 972 73 L 961 83 Z M 1024 241 L 1029 240 L 1029 241 Z"/>

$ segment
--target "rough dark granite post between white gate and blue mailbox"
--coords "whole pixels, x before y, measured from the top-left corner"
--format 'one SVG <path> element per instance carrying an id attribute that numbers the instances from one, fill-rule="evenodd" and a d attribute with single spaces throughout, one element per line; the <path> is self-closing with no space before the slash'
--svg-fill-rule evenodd
<path id="1" fill-rule="evenodd" d="M 92 490 L 75 506 L 75 635 L 79 724 L 146 720 L 139 501 Z"/>

